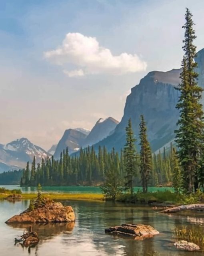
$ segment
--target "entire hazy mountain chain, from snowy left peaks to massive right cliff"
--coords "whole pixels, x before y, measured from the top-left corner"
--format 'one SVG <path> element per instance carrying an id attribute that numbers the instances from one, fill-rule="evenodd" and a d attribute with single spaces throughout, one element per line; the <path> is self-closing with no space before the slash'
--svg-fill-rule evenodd
<path id="1" fill-rule="evenodd" d="M 204 88 L 204 49 L 196 56 L 199 73 L 198 84 Z M 152 71 L 141 79 L 140 83 L 132 88 L 126 99 L 124 115 L 120 123 L 112 117 L 99 119 L 91 131 L 84 128 L 67 129 L 57 145 L 53 145 L 46 152 L 34 145 L 28 139 L 22 138 L 6 145 L 0 144 L 0 172 L 8 169 L 25 167 L 27 161 L 41 161 L 42 157 L 54 155 L 60 157 L 63 149 L 68 147 L 69 153 L 76 152 L 80 147 L 88 145 L 112 147 L 120 151 L 125 143 L 125 127 L 128 119 L 132 119 L 132 128 L 138 139 L 140 115 L 143 114 L 148 129 L 148 139 L 152 151 L 157 151 L 168 145 L 174 139 L 174 130 L 179 117 L 175 108 L 178 102 L 179 91 L 175 89 L 180 83 L 180 69 L 161 72 Z M 204 105 L 204 97 L 202 98 Z"/>

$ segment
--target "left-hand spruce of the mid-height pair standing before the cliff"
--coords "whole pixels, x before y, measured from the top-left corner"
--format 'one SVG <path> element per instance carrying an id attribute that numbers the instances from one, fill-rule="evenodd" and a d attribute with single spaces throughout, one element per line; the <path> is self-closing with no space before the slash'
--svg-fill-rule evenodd
<path id="1" fill-rule="evenodd" d="M 136 148 L 134 133 L 132 131 L 131 118 L 126 127 L 126 144 L 124 146 L 124 165 L 125 165 L 125 188 L 130 190 L 133 195 L 133 181 L 136 174 Z"/>

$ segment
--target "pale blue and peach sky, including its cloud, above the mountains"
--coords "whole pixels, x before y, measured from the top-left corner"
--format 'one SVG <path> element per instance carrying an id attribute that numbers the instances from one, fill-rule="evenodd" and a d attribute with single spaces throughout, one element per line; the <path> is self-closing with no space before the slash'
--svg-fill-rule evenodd
<path id="1" fill-rule="evenodd" d="M 180 67 L 186 7 L 200 50 L 203 0 L 0 0 L 0 143 L 120 121 L 144 75 Z"/>

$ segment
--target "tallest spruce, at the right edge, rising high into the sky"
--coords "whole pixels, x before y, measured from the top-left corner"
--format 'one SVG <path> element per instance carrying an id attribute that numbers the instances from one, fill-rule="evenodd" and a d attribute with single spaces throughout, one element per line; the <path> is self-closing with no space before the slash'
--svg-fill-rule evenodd
<path id="1" fill-rule="evenodd" d="M 200 103 L 203 89 L 197 83 L 198 73 L 195 71 L 197 63 L 194 61 L 196 46 L 193 43 L 196 36 L 192 14 L 188 9 L 186 9 L 185 18 L 180 98 L 176 105 L 180 111 L 180 118 L 175 133 L 178 157 L 182 167 L 183 187 L 191 193 L 196 191 L 199 185 L 200 158 L 204 145 L 203 111 Z"/>

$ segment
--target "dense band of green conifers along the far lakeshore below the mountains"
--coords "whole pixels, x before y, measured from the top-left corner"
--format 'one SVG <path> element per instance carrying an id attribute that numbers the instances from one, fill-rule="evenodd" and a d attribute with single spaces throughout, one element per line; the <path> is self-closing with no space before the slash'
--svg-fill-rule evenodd
<path id="1" fill-rule="evenodd" d="M 172 152 L 152 155 L 152 170 L 149 174 L 148 185 L 156 186 L 172 181 Z M 142 185 L 140 175 L 140 155 L 135 154 L 137 161 L 134 163 L 132 173 L 133 186 Z M 26 165 L 22 170 L 21 185 L 100 185 L 108 178 L 110 172 L 115 173 L 120 184 L 126 183 L 126 169 L 124 151 L 109 153 L 105 147 L 94 150 L 94 147 L 81 149 L 78 156 L 70 156 L 68 150 L 64 150 L 60 159 L 53 157 L 42 159 L 41 164 L 35 165 L 34 161 Z"/>

